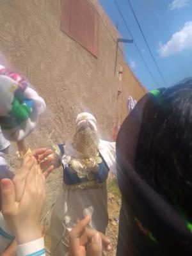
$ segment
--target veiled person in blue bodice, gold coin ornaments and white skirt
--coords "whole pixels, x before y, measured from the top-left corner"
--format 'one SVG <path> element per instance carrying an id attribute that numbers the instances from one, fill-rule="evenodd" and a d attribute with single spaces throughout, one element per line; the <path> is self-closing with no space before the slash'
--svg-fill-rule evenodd
<path id="1" fill-rule="evenodd" d="M 90 113 L 76 118 L 73 141 L 55 147 L 56 165 L 63 166 L 63 188 L 51 216 L 53 255 L 67 255 L 68 232 L 84 216 L 90 227 L 105 234 L 108 226 L 108 172 L 115 170 L 115 143 L 99 139 L 97 122 Z"/>

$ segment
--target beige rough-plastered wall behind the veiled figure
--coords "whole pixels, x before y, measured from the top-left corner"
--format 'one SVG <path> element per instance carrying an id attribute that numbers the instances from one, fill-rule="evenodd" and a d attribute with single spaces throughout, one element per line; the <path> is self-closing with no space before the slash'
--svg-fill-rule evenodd
<path id="1" fill-rule="evenodd" d="M 100 15 L 98 59 L 61 31 L 61 0 L 0 0 L 0 51 L 13 68 L 28 77 L 48 106 L 28 138 L 32 148 L 65 141 L 74 132 L 74 118 L 80 111 L 92 112 L 102 136 L 111 139 L 116 115 L 122 111 L 117 102 L 122 83 L 114 76 L 120 35 L 98 0 L 90 1 Z M 123 66 L 124 60 L 118 50 L 119 64 Z M 138 82 L 131 72 L 126 77 L 134 92 Z M 123 100 L 127 88 L 123 87 Z M 10 164 L 18 166 L 15 157 L 10 157 Z M 56 199 L 61 176 L 61 170 L 56 170 L 47 180 L 46 209 Z"/>

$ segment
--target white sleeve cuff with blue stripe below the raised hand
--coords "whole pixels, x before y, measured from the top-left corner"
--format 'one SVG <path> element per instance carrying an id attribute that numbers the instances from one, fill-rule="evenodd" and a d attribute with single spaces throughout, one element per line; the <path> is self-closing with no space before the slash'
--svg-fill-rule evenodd
<path id="1" fill-rule="evenodd" d="M 45 256 L 44 237 L 17 246 L 17 256 Z"/>

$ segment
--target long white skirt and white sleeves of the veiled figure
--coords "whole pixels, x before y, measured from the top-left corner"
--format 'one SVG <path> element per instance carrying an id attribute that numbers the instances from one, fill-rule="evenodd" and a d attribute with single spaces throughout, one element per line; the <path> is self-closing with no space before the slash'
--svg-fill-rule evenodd
<path id="1" fill-rule="evenodd" d="M 100 140 L 99 151 L 115 174 L 115 143 Z M 65 147 L 65 154 L 74 155 L 72 147 Z M 66 164 L 63 159 L 63 164 Z M 106 184 L 102 188 L 61 189 L 51 216 L 51 243 L 54 256 L 68 253 L 67 234 L 85 216 L 92 216 L 90 227 L 105 234 L 108 226 L 108 193 Z"/>

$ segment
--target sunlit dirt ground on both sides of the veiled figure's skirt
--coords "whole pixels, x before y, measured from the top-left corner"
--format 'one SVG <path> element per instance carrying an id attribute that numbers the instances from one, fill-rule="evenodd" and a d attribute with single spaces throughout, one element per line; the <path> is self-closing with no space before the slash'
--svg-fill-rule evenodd
<path id="1" fill-rule="evenodd" d="M 106 232 L 106 236 L 111 240 L 113 250 L 109 253 L 105 253 L 107 256 L 116 255 L 116 243 L 118 238 L 118 216 L 120 211 L 120 191 L 116 184 L 116 180 L 109 175 L 108 178 L 108 213 L 109 213 L 109 224 Z M 45 234 L 45 246 L 47 250 L 51 248 L 51 239 L 49 236 L 49 221 L 50 214 L 47 215 L 47 219 L 44 221 L 44 234 Z M 49 253 L 47 253 L 49 255 Z"/>

